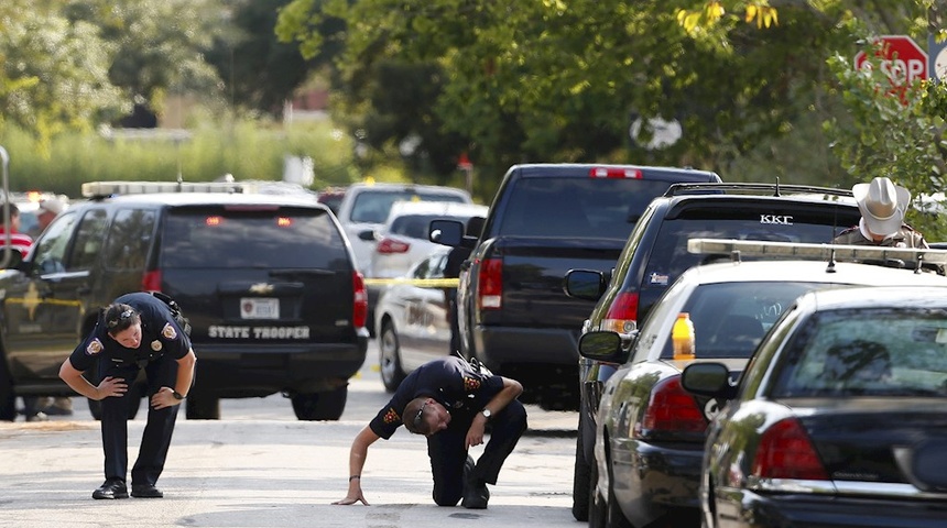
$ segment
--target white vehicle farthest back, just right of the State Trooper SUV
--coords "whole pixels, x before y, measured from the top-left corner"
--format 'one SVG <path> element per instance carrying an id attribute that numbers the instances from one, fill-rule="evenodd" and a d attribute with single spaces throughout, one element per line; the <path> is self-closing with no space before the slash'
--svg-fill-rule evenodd
<path id="1" fill-rule="evenodd" d="M 346 189 L 336 216 L 348 235 L 356 266 L 370 277 L 374 231 L 384 224 L 396 201 L 455 201 L 472 204 L 466 190 L 413 184 L 352 184 Z"/>

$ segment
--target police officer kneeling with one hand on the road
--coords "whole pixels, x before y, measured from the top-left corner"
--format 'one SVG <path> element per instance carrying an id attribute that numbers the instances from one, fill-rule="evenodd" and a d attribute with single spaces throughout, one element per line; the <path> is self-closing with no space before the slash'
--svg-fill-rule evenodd
<path id="1" fill-rule="evenodd" d="M 526 429 L 526 409 L 516 400 L 523 386 L 515 380 L 475 369 L 466 360 L 445 356 L 425 363 L 401 382 L 382 408 L 352 441 L 349 453 L 349 490 L 333 504 L 368 505 L 361 490 L 361 470 L 368 448 L 379 438 L 391 438 L 405 428 L 427 437 L 427 455 L 438 506 L 483 509 L 500 468 Z M 483 443 L 487 422 L 490 440 L 475 464 L 467 450 Z"/>

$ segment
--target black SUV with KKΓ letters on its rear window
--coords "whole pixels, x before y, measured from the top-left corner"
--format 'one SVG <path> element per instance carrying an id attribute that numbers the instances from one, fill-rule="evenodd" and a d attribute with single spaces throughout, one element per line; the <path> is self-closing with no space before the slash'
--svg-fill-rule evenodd
<path id="1" fill-rule="evenodd" d="M 583 333 L 611 330 L 630 344 L 667 287 L 688 267 L 714 255 L 687 252 L 690 238 L 829 243 L 860 213 L 850 190 L 779 184 L 677 184 L 642 215 L 611 276 L 597 270 L 566 274 L 568 295 L 598 302 Z M 717 255 L 718 257 L 720 255 Z M 723 255 L 730 257 L 730 255 Z M 595 488 L 596 414 L 603 383 L 617 365 L 579 358 L 579 433 L 573 515 L 588 518 Z M 591 485 L 590 485 L 591 483 Z"/>

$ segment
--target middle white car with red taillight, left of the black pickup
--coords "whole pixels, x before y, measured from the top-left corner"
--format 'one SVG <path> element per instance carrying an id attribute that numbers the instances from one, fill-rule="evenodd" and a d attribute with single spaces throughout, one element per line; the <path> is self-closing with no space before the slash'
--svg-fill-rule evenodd
<path id="1" fill-rule="evenodd" d="M 377 278 L 400 277 L 432 251 L 444 248 L 427 238 L 432 220 L 487 218 L 487 206 L 449 201 L 399 201 L 388 221 L 375 231 L 378 243 L 371 253 L 368 273 Z"/>

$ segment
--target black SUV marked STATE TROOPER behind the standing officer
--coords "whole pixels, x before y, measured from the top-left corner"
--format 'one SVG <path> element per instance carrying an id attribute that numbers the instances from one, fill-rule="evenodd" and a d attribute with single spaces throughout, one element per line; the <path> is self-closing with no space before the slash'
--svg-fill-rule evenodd
<path id="1" fill-rule="evenodd" d="M 152 290 L 175 299 L 192 326 L 187 418 L 218 419 L 221 397 L 274 393 L 301 420 L 341 416 L 366 358 L 367 294 L 326 206 L 240 184 L 94 183 L 83 194 L 88 201 L 0 274 L 0 394 L 73 395 L 59 365 L 99 308 Z M 0 419 L 11 420 L 13 398 L 4 399 Z"/>

